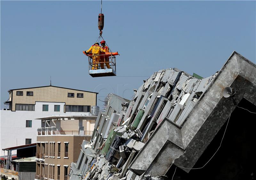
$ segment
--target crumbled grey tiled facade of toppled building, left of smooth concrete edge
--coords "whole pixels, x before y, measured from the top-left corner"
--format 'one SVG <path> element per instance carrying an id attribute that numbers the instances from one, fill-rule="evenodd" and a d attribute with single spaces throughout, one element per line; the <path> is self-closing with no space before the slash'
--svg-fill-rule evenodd
<path id="1" fill-rule="evenodd" d="M 83 142 L 71 165 L 70 179 L 164 179 L 128 168 L 165 117 L 182 125 L 216 74 L 198 79 L 177 68 L 163 69 L 134 90 L 131 101 L 109 94 L 90 144 Z"/>

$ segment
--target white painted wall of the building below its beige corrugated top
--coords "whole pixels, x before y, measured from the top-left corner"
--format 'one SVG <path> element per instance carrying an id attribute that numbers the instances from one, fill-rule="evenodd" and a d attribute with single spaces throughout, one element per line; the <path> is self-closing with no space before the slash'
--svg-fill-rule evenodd
<path id="1" fill-rule="evenodd" d="M 25 145 L 26 138 L 36 143 L 37 128 L 41 127 L 41 120 L 36 118 L 52 115 L 90 115 L 91 113 L 64 113 L 65 103 L 36 102 L 35 111 L 0 111 L 0 157 L 4 156 L 3 148 Z M 49 105 L 48 111 L 43 111 L 43 105 Z M 54 105 L 60 105 L 60 112 L 54 112 Z M 32 128 L 26 128 L 26 120 L 32 120 Z M 5 151 L 5 153 L 7 153 Z M 12 151 L 15 155 L 16 151 Z M 7 154 L 5 154 L 7 156 Z"/>

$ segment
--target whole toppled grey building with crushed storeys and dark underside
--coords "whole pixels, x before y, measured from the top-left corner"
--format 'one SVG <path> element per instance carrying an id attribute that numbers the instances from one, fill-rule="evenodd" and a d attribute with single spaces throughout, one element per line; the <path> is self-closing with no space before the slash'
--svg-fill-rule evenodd
<path id="1" fill-rule="evenodd" d="M 202 179 L 253 178 L 255 156 L 246 154 L 255 135 L 241 120 L 256 119 L 255 91 L 256 65 L 236 52 L 207 78 L 177 68 L 155 72 L 131 101 L 109 98 L 91 142 L 83 142 L 71 164 L 70 179 L 201 179 L 198 172 Z M 240 144 L 227 154 L 230 142 Z"/>

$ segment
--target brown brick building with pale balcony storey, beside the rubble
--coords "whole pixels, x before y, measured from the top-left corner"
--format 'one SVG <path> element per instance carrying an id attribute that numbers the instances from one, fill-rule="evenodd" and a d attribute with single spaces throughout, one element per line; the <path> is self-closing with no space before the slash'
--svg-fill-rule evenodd
<path id="1" fill-rule="evenodd" d="M 35 179 L 67 180 L 69 165 L 78 159 L 81 144 L 90 141 L 97 116 L 38 118 Z"/>

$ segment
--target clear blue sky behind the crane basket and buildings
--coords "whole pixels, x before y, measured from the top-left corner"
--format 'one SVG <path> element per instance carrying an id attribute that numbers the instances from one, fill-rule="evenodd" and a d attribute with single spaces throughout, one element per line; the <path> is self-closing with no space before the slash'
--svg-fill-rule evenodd
<path id="1" fill-rule="evenodd" d="M 117 76 L 92 78 L 100 1 L 1 1 L 1 108 L 7 90 L 52 85 L 130 99 L 155 71 L 208 77 L 233 51 L 255 63 L 255 1 L 104 1 L 103 38 Z M 102 104 L 98 101 L 102 108 Z"/>

